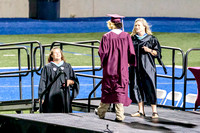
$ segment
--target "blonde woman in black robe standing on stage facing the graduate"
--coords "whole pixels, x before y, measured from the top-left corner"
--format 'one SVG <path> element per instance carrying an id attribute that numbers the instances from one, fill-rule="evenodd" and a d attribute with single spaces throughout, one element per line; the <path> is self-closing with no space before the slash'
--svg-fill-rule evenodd
<path id="1" fill-rule="evenodd" d="M 151 104 L 152 118 L 158 118 L 156 97 L 156 65 L 155 58 L 161 61 L 161 48 L 150 27 L 144 18 L 137 18 L 131 33 L 135 48 L 137 66 L 129 69 L 130 97 L 138 103 L 138 112 L 131 114 L 132 117 L 145 116 L 144 102 Z M 165 70 L 165 67 L 164 67 Z"/>

